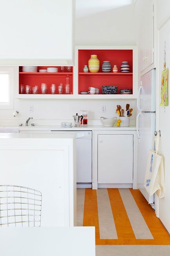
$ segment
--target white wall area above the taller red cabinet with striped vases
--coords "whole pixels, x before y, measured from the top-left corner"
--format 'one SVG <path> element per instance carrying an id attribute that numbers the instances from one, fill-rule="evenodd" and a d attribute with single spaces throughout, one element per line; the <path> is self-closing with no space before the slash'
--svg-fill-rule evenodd
<path id="1" fill-rule="evenodd" d="M 76 45 L 136 45 L 134 5 L 76 19 Z"/>

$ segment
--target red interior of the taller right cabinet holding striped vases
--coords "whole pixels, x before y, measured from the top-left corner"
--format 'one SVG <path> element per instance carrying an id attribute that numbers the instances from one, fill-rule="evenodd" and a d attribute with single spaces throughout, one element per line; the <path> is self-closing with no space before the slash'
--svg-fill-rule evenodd
<path id="1" fill-rule="evenodd" d="M 92 54 L 96 54 L 100 61 L 99 72 L 83 73 L 84 65 L 88 65 Z M 103 61 L 110 61 L 112 68 L 117 65 L 118 73 L 102 73 Z M 120 72 L 122 61 L 128 61 L 129 73 Z M 78 50 L 78 93 L 89 91 L 89 87 L 96 87 L 100 89 L 101 94 L 102 85 L 118 86 L 118 94 L 120 89 L 133 89 L 133 50 Z"/>

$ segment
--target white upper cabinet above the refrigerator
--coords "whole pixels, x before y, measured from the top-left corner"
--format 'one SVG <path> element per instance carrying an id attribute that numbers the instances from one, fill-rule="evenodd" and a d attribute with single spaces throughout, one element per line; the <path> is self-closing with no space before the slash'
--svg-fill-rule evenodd
<path id="1" fill-rule="evenodd" d="M 154 63 L 154 0 L 137 0 L 135 9 L 139 71 L 143 72 Z"/>

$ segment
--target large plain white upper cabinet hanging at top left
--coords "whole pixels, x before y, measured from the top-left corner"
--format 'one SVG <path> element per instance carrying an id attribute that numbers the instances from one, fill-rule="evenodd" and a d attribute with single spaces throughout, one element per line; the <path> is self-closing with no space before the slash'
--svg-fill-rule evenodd
<path id="1" fill-rule="evenodd" d="M 1 2 L 0 64 L 71 64 L 74 15 L 74 0 Z"/>

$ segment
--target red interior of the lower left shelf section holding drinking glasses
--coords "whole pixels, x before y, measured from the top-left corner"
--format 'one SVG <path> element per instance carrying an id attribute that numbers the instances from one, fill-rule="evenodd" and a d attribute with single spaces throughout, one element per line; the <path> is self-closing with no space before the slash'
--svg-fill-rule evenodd
<path id="1" fill-rule="evenodd" d="M 52 66 L 51 66 L 52 67 Z M 53 66 L 56 67 L 56 66 Z M 47 94 L 51 94 L 50 86 L 52 83 L 56 85 L 56 94 L 58 94 L 58 85 L 63 83 L 63 94 L 65 88 L 65 78 L 67 74 L 70 78 L 70 93 L 73 94 L 73 70 L 72 72 L 60 72 L 60 67 L 58 67 L 57 73 L 40 73 L 40 69 L 47 69 L 48 67 L 38 67 L 38 72 L 22 72 L 22 67 L 19 67 L 19 91 L 20 85 L 38 85 L 38 94 L 41 94 L 41 83 L 47 83 Z"/>

